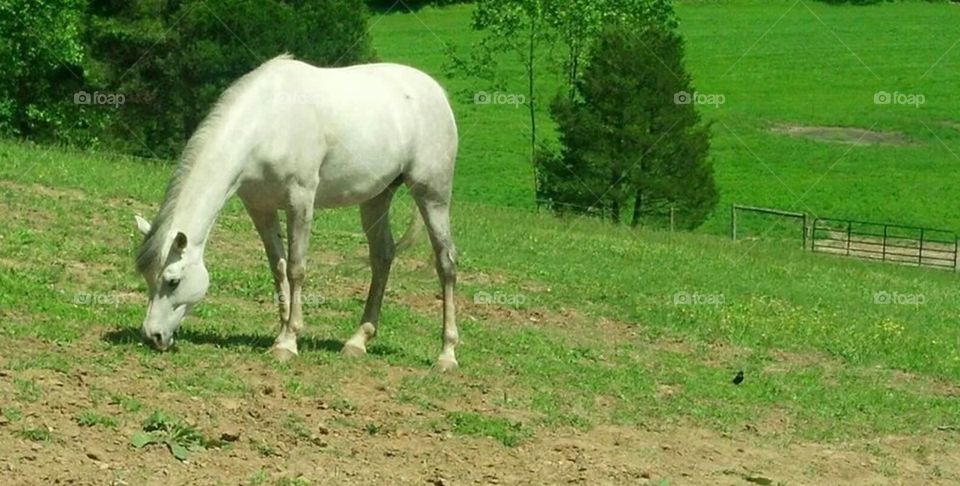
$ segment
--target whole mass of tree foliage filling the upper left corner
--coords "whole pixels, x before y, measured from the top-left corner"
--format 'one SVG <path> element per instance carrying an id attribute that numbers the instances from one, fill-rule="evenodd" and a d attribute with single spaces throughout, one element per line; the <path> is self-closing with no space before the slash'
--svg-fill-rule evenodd
<path id="1" fill-rule="evenodd" d="M 269 58 L 373 58 L 366 19 L 362 0 L 6 1 L 0 133 L 174 157 L 220 93 Z"/>

